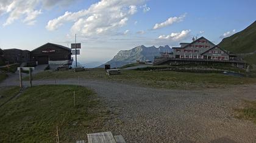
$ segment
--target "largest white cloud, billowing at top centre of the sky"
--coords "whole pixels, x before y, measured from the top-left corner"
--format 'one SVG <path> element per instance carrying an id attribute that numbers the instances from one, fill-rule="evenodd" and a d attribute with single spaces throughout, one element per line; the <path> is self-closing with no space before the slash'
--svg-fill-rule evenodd
<path id="1" fill-rule="evenodd" d="M 145 0 L 102 0 L 79 12 L 65 12 L 46 25 L 56 30 L 65 22 L 74 22 L 71 33 L 83 36 L 115 34 L 119 27 L 126 25 L 129 16 L 137 12 L 137 5 Z"/>

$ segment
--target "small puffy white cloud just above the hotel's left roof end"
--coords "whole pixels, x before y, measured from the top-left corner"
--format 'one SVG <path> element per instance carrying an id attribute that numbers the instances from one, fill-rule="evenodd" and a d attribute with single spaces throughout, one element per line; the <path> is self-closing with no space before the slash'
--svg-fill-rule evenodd
<path id="1" fill-rule="evenodd" d="M 170 35 L 160 35 L 158 39 L 168 39 L 171 41 L 179 41 L 180 39 L 187 38 L 189 36 L 190 30 L 182 30 L 179 33 L 171 33 Z"/>

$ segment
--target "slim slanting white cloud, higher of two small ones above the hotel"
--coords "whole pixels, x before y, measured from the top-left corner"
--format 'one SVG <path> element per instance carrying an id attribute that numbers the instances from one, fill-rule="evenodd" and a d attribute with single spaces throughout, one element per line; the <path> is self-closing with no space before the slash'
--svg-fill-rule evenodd
<path id="1" fill-rule="evenodd" d="M 175 16 L 175 17 L 168 18 L 165 22 L 155 24 L 153 29 L 163 28 L 163 27 L 166 27 L 168 25 L 174 24 L 174 22 L 181 22 L 181 21 L 183 21 L 185 16 L 186 16 L 186 13 L 179 16 L 179 17 Z"/>

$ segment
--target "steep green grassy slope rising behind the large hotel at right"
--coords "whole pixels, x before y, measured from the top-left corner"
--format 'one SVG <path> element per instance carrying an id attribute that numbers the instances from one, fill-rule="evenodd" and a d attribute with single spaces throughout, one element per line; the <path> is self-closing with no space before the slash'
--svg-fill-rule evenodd
<path id="1" fill-rule="evenodd" d="M 219 46 L 232 53 L 252 53 L 256 51 L 256 21 L 241 32 L 222 39 Z"/>

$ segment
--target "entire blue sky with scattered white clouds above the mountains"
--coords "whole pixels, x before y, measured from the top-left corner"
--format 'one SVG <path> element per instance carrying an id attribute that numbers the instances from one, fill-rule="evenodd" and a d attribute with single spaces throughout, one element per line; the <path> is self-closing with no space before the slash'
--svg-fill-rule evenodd
<path id="1" fill-rule="evenodd" d="M 107 62 L 138 45 L 176 47 L 192 37 L 218 44 L 256 20 L 255 0 L 0 0 L 0 48 L 33 50 L 52 42 L 80 63 Z"/>

